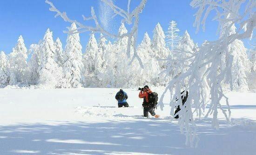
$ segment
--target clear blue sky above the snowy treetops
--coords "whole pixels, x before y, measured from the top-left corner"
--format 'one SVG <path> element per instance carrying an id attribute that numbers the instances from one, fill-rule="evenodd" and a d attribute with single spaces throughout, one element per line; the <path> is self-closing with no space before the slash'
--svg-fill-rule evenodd
<path id="1" fill-rule="evenodd" d="M 127 1 L 115 0 L 115 3 L 126 9 Z M 139 0 L 131 1 L 132 8 L 139 2 Z M 82 21 L 81 15 L 89 16 L 90 7 L 94 6 L 96 14 L 101 21 L 105 21 L 103 24 L 109 31 L 117 33 L 120 26 L 120 18 L 109 19 L 111 13 L 108 10 L 102 11 L 103 5 L 99 0 L 52 0 L 52 2 L 60 11 L 66 11 L 71 19 L 80 21 Z M 163 30 L 167 31 L 170 20 L 177 22 L 181 30 L 180 35 L 188 30 L 191 38 L 199 45 L 204 40 L 216 40 L 217 22 L 211 20 L 213 14 L 210 14 L 207 20 L 206 31 L 200 30 L 195 34 L 193 14 L 196 10 L 189 6 L 189 2 L 190 0 L 148 0 L 140 16 L 138 43 L 141 42 L 145 32 L 148 32 L 150 38 L 153 37 L 153 29 L 158 22 Z M 63 30 L 67 30 L 66 27 L 70 26 L 70 23 L 60 17 L 54 18 L 54 15 L 55 13 L 49 11 L 49 5 L 45 0 L 0 0 L 0 51 L 10 53 L 20 35 L 29 48 L 31 44 L 37 44 L 43 38 L 47 28 L 53 31 L 54 40 L 57 37 L 61 39 L 64 48 L 67 34 L 63 33 Z M 106 23 L 108 20 L 109 22 Z M 93 25 L 90 21 L 82 22 L 85 25 Z M 82 52 L 85 52 L 89 32 L 80 34 L 80 37 Z"/>

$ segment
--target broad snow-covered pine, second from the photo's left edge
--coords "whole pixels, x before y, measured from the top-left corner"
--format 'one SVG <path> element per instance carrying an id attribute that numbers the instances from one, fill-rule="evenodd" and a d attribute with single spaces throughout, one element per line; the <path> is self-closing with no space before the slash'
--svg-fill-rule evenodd
<path id="1" fill-rule="evenodd" d="M 27 48 L 21 35 L 13 48 L 13 52 L 10 53 L 9 63 L 12 74 L 10 84 L 26 84 L 28 75 Z"/>

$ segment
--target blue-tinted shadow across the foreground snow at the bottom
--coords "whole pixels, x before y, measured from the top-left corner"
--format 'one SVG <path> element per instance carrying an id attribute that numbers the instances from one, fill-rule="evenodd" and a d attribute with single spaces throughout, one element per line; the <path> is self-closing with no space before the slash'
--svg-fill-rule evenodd
<path id="1" fill-rule="evenodd" d="M 0 126 L 0 155 L 242 155 L 256 152 L 256 130 L 210 119 L 197 121 L 198 148 L 184 145 L 176 121 L 135 119 L 105 123 L 18 124 Z"/>

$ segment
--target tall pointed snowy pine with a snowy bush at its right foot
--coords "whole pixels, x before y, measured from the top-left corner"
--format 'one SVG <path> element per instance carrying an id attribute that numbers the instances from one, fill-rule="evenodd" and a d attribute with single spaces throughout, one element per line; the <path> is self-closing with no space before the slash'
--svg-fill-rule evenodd
<path id="1" fill-rule="evenodd" d="M 63 84 L 62 68 L 55 61 L 56 47 L 53 33 L 47 29 L 39 45 L 39 85 L 43 88 L 60 88 Z"/>

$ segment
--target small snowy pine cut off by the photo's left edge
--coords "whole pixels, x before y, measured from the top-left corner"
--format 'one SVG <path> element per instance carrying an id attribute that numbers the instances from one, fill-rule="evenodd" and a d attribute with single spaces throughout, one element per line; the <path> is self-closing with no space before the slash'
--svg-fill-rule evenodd
<path id="1" fill-rule="evenodd" d="M 6 54 L 0 52 L 0 88 L 4 88 L 9 84 L 10 72 L 8 69 L 8 62 Z"/>

